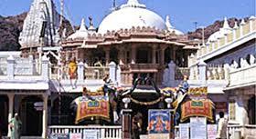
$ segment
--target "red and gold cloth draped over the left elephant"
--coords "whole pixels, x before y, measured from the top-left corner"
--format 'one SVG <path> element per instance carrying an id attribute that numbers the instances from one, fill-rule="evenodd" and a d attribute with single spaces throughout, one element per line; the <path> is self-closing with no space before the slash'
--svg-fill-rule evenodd
<path id="1" fill-rule="evenodd" d="M 85 97 L 85 96 L 84 96 Z M 92 116 L 110 120 L 110 105 L 104 95 L 91 96 L 92 99 L 81 98 L 78 103 L 76 123 Z"/>

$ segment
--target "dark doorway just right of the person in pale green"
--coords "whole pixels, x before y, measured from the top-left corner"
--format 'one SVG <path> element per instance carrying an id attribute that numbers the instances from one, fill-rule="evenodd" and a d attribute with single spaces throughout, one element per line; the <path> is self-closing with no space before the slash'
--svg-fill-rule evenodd
<path id="1" fill-rule="evenodd" d="M 36 109 L 35 103 L 43 102 L 39 96 L 27 96 L 22 99 L 19 115 L 22 122 L 22 135 L 41 136 L 43 109 Z"/>

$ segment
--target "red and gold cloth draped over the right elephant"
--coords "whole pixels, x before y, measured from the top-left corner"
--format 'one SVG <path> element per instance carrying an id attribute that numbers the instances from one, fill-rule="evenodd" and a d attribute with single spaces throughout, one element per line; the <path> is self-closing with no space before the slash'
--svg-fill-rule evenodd
<path id="1" fill-rule="evenodd" d="M 203 116 L 207 117 L 209 122 L 214 122 L 212 109 L 213 103 L 206 100 L 191 100 L 181 105 L 181 122 L 189 117 Z"/>

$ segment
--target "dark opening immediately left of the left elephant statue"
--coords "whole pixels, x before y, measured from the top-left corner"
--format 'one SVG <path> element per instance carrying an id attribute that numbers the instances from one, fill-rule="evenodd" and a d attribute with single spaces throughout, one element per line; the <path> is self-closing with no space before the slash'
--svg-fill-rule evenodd
<path id="1" fill-rule="evenodd" d="M 73 100 L 74 99 L 70 96 L 62 95 L 60 97 L 60 101 L 61 101 L 60 103 L 59 103 L 59 97 L 57 97 L 53 101 L 53 106 L 51 108 L 51 124 L 72 125 L 75 123 L 74 110 L 70 108 L 70 104 L 72 103 Z"/>

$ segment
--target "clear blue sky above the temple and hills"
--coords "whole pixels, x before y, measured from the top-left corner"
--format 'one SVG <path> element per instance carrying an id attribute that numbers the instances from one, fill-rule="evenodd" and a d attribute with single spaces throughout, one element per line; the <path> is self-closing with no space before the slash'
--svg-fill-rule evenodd
<path id="1" fill-rule="evenodd" d="M 0 0 L 0 15 L 18 15 L 29 10 L 33 0 Z M 59 0 L 53 0 L 59 11 Z M 113 0 L 64 0 L 65 16 L 72 25 L 80 25 L 81 18 L 91 15 L 95 26 L 101 24 L 104 16 L 110 13 Z M 122 5 L 127 0 L 115 0 Z M 170 15 L 171 24 L 185 33 L 198 27 L 213 24 L 224 17 L 247 17 L 255 15 L 256 0 L 139 0 L 165 19 Z"/>

